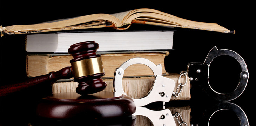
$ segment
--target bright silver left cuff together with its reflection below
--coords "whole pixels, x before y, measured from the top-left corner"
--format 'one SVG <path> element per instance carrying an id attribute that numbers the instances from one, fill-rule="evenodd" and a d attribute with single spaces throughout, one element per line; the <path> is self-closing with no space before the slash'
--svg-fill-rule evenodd
<path id="1" fill-rule="evenodd" d="M 151 62 L 145 58 L 132 58 L 132 59 L 129 59 L 128 61 L 124 62 L 115 71 L 114 83 L 113 83 L 115 92 L 119 92 L 124 95 L 127 95 L 123 91 L 122 78 L 124 75 L 124 70 L 133 64 L 147 65 L 153 71 L 154 76 L 155 76 L 153 86 L 151 87 L 151 90 L 149 91 L 149 93 L 147 94 L 146 97 L 143 97 L 141 99 L 133 99 L 132 98 L 136 105 L 136 112 L 133 115 L 134 116 L 136 116 L 136 115 L 146 116 L 147 118 L 150 119 L 150 121 L 153 124 L 160 123 L 160 124 L 164 124 L 166 126 L 176 125 L 176 123 L 174 121 L 174 117 L 169 116 L 170 114 L 172 114 L 169 109 L 164 109 L 161 111 L 153 111 L 153 110 L 147 109 L 146 107 L 142 107 L 142 106 L 145 106 L 149 103 L 153 103 L 156 101 L 169 102 L 171 99 L 171 95 L 173 94 L 172 91 L 174 90 L 174 87 L 175 87 L 175 82 L 172 79 L 161 76 L 161 74 L 162 74 L 161 64 L 155 65 L 153 62 Z M 160 120 L 159 118 L 156 118 L 155 116 L 159 116 L 160 118 L 164 117 L 165 119 Z"/>

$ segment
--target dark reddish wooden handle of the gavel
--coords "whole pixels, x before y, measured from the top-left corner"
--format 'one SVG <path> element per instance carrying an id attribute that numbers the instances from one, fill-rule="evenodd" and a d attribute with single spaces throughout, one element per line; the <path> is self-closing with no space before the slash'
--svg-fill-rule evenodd
<path id="1" fill-rule="evenodd" d="M 59 79 L 70 79 L 72 77 L 73 75 L 71 72 L 71 67 L 66 67 L 56 72 L 50 72 L 46 75 L 29 78 L 28 80 L 22 83 L 1 86 L 0 94 L 1 96 L 6 96 L 10 93 L 14 93 L 43 82 L 54 83 Z"/>

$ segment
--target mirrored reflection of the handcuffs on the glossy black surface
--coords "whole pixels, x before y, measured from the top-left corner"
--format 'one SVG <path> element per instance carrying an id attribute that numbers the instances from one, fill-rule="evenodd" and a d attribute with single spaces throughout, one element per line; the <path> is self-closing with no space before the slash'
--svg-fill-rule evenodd
<path id="1" fill-rule="evenodd" d="M 200 118 L 200 126 L 209 126 L 214 114 L 222 110 L 234 112 L 238 117 L 241 126 L 250 126 L 248 118 L 242 108 L 230 102 L 220 102 L 206 109 L 206 113 L 204 113 L 202 118 Z M 183 121 L 180 113 L 176 112 L 175 114 L 171 114 L 170 109 L 155 111 L 147 109 L 146 107 L 137 107 L 136 112 L 133 115 L 147 117 L 154 126 L 176 126 L 174 118 L 176 118 L 177 123 L 180 126 L 190 125 Z M 198 124 L 191 124 L 191 126 L 198 126 Z"/>

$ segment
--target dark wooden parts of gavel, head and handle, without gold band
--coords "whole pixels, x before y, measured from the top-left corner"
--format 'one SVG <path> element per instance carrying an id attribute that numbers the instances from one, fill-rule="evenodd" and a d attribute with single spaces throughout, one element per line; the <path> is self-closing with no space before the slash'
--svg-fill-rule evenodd
<path id="1" fill-rule="evenodd" d="M 70 63 L 83 59 L 100 57 L 101 55 L 96 54 L 98 48 L 99 44 L 94 41 L 80 42 L 71 45 L 68 52 L 74 57 L 74 59 L 70 60 Z M 56 72 L 50 72 L 46 75 L 29 78 L 25 82 L 1 86 L 1 96 L 6 96 L 10 93 L 17 92 L 44 82 L 54 83 L 59 79 L 69 79 L 72 78 L 73 75 L 74 74 L 72 73 L 71 67 L 62 68 Z M 74 78 L 74 81 L 79 83 L 76 92 L 82 95 L 104 90 L 107 86 L 107 84 L 101 79 L 101 77 L 104 75 L 105 73 L 97 73 Z"/>

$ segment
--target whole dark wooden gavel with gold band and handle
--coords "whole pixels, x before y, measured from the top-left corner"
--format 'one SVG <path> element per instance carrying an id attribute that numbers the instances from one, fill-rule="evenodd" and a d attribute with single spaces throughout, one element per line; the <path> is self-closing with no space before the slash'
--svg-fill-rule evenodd
<path id="1" fill-rule="evenodd" d="M 43 82 L 56 82 L 59 79 L 69 79 L 74 77 L 78 82 L 76 93 L 92 94 L 105 89 L 107 84 L 101 79 L 105 75 L 101 61 L 101 55 L 96 54 L 99 44 L 94 41 L 73 44 L 68 49 L 68 53 L 74 59 L 70 60 L 71 67 L 62 68 L 56 72 L 46 75 L 29 78 L 26 82 L 14 85 L 1 86 L 1 96 L 25 89 Z"/>

